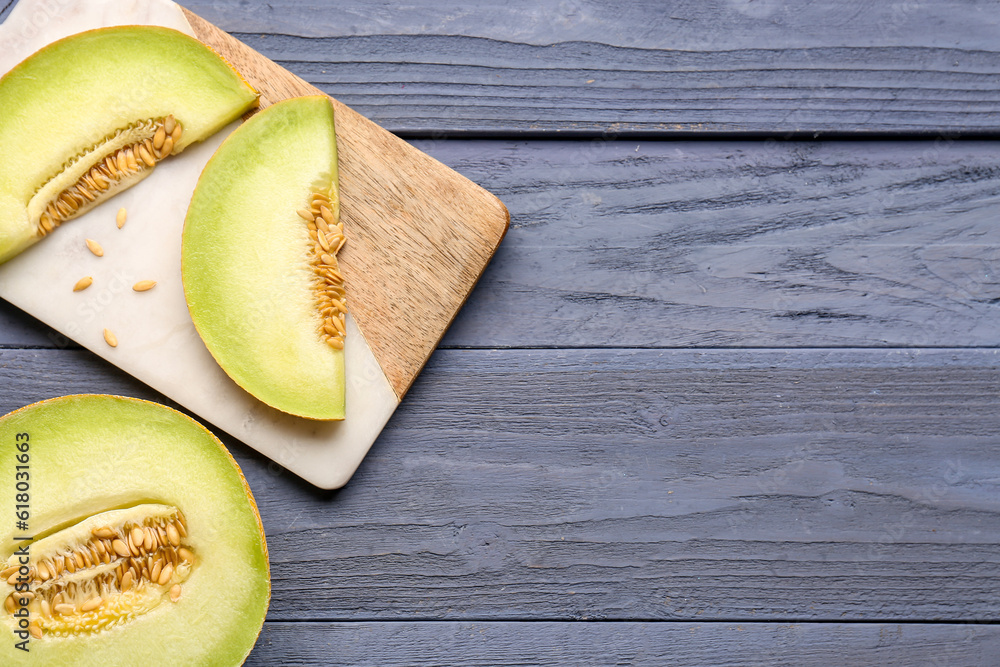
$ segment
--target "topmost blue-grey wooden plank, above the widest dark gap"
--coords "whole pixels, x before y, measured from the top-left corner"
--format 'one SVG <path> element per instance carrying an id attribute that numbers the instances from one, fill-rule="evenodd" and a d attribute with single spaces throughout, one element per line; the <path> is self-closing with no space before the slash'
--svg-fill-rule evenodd
<path id="1" fill-rule="evenodd" d="M 394 132 L 996 132 L 988 2 L 187 6 Z"/>

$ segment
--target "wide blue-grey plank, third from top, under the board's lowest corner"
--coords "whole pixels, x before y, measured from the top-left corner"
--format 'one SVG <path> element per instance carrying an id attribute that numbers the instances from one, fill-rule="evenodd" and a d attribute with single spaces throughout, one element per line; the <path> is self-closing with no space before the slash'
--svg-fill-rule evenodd
<path id="1" fill-rule="evenodd" d="M 0 351 L 0 408 L 131 393 Z M 271 620 L 977 620 L 1000 350 L 442 350 L 344 489 L 227 441 Z"/>

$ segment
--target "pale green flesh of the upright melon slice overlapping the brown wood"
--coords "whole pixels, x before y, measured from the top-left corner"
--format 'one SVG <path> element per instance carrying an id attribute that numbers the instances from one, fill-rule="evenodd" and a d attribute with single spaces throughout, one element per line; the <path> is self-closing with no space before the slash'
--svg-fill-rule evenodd
<path id="1" fill-rule="evenodd" d="M 233 132 L 198 181 L 182 241 L 191 318 L 229 376 L 264 403 L 344 418 L 344 353 L 321 339 L 296 211 L 337 197 L 333 107 L 324 96 L 265 109 Z"/>

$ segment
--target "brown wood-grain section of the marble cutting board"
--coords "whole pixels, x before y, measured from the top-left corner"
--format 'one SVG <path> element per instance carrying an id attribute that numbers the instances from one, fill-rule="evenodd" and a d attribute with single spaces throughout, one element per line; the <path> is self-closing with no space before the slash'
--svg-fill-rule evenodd
<path id="1" fill-rule="evenodd" d="M 266 107 L 320 91 L 189 11 Z M 500 201 L 334 100 L 349 308 L 402 398 L 507 231 Z"/>

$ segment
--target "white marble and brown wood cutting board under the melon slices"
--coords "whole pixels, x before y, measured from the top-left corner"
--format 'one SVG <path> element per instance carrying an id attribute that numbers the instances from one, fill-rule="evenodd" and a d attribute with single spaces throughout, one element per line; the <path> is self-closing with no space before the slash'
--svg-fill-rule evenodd
<path id="1" fill-rule="evenodd" d="M 169 0 L 64 0 L 56 13 L 52 7 L 21 0 L 0 25 L 0 43 L 12 45 L 6 61 L 0 54 L 0 74 L 73 32 L 155 24 L 181 29 L 215 49 L 260 93 L 261 108 L 323 94 Z M 48 20 L 39 23 L 45 12 Z M 179 281 L 183 214 L 202 166 L 232 127 L 0 266 L 0 296 L 313 484 L 343 486 L 468 297 L 509 216 L 478 185 L 337 100 L 333 104 L 348 239 L 338 259 L 351 309 L 344 422 L 314 422 L 260 404 L 218 368 L 190 323 Z M 121 233 L 109 225 L 119 206 L 130 211 Z M 102 264 L 83 249 L 85 237 L 104 245 Z M 89 301 L 66 289 L 95 271 L 103 271 L 95 273 L 95 285 L 103 275 L 107 287 Z M 130 280 L 152 277 L 160 283 L 141 301 L 126 289 Z M 117 348 L 104 344 L 103 326 L 120 334 Z"/>

